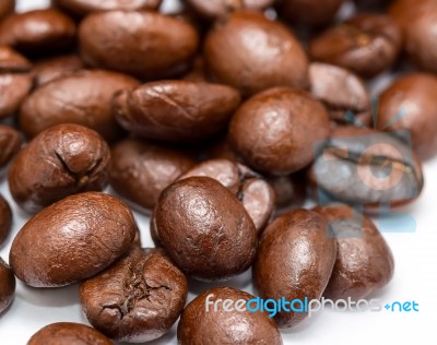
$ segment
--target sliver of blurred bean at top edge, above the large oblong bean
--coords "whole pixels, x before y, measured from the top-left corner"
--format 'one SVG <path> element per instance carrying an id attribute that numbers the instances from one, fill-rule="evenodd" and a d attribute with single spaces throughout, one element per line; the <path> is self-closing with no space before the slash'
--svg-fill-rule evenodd
<path id="1" fill-rule="evenodd" d="M 157 10 L 162 0 L 54 0 L 61 9 L 85 16 L 91 12 L 109 10 Z"/>

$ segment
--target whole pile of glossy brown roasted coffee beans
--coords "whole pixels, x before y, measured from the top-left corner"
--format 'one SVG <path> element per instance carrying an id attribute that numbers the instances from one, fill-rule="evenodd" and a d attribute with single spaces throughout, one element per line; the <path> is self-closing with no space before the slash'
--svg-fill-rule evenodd
<path id="1" fill-rule="evenodd" d="M 308 312 L 250 300 L 361 300 L 393 276 L 368 216 L 417 200 L 437 155 L 437 2 L 161 7 L 0 1 L 0 178 L 28 218 L 11 234 L 0 195 L 0 313 L 16 278 L 79 284 L 92 325 L 29 345 L 144 343 L 177 322 L 182 345 L 282 344 Z M 228 283 L 248 270 L 257 297 Z"/>

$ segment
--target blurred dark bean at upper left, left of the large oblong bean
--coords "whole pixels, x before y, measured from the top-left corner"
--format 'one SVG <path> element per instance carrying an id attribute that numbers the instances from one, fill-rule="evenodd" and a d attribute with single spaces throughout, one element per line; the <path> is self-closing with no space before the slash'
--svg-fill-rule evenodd
<path id="1" fill-rule="evenodd" d="M 0 25 L 0 44 L 26 53 L 64 50 L 74 43 L 74 22 L 55 9 L 13 14 Z"/>

